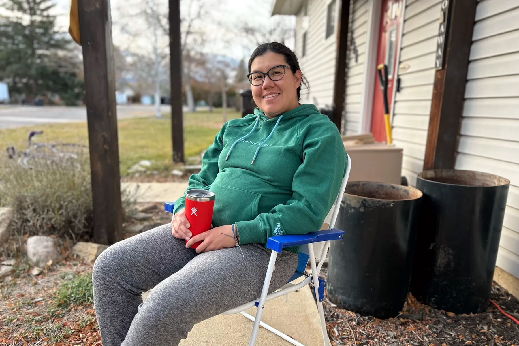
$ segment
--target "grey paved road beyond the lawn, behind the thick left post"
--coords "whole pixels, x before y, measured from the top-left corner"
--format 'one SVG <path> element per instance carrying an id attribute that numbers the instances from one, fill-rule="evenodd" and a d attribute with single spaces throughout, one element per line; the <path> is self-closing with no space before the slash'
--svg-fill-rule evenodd
<path id="1" fill-rule="evenodd" d="M 170 113 L 170 109 L 169 105 L 163 105 L 161 108 L 162 113 Z M 154 106 L 117 106 L 117 118 L 119 119 L 153 116 L 154 114 Z M 0 129 L 86 120 L 85 107 L 0 105 Z"/>

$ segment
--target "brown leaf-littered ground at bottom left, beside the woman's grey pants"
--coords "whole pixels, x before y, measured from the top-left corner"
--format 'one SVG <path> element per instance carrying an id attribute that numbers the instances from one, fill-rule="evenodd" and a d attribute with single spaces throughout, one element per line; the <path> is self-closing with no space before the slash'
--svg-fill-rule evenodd
<path id="1" fill-rule="evenodd" d="M 71 272 L 91 272 L 92 264 L 63 261 L 52 266 L 36 282 L 30 268 L 16 282 L 0 282 L 6 295 L 0 305 L 0 345 L 101 346 L 91 303 L 56 310 L 54 301 L 64 278 Z"/>

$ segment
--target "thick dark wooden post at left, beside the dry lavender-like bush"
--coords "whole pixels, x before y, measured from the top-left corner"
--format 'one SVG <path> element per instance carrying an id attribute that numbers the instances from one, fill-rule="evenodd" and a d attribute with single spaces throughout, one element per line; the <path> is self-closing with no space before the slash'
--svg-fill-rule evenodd
<path id="1" fill-rule="evenodd" d="M 78 2 L 85 70 L 94 242 L 122 240 L 117 107 L 110 0 Z"/>

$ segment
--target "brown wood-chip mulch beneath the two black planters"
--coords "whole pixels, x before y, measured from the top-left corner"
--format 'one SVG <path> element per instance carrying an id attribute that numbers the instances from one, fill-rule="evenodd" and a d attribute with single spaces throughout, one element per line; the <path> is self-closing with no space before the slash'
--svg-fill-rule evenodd
<path id="1" fill-rule="evenodd" d="M 327 276 L 326 268 L 321 271 Z M 411 294 L 402 312 L 392 319 L 372 316 L 338 308 L 324 297 L 326 327 L 332 345 L 518 345 L 519 300 L 496 282 L 491 301 L 509 316 L 488 302 L 488 309 L 478 314 L 454 314 L 421 304 Z"/>

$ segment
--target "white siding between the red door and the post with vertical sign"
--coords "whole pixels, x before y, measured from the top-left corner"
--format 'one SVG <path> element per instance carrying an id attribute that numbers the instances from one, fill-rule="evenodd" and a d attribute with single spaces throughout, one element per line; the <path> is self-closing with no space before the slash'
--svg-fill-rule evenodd
<path id="1" fill-rule="evenodd" d="M 441 0 L 407 1 L 400 52 L 400 91 L 395 94 L 392 135 L 403 149 L 402 175 L 416 185 L 424 167 L 434 84 L 434 52 Z"/>

